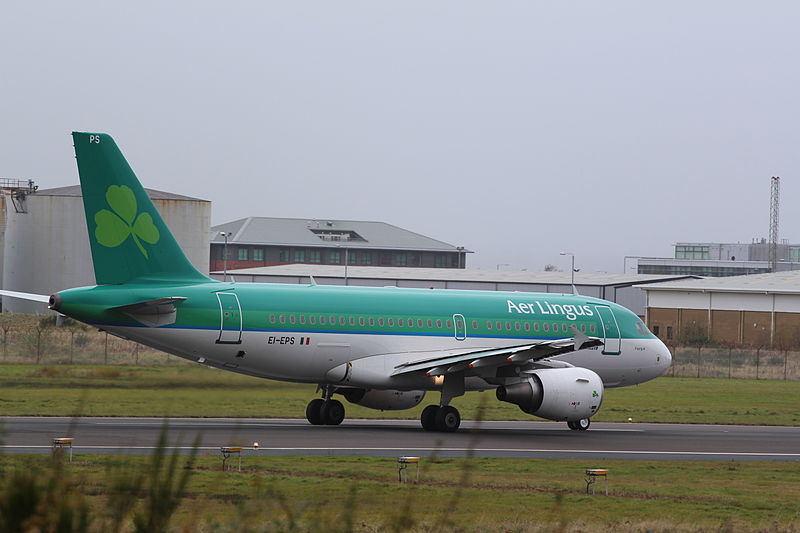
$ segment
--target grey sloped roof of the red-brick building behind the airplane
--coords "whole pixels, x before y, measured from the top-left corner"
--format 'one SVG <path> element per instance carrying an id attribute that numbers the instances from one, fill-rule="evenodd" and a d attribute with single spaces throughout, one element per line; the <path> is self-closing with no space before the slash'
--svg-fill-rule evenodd
<path id="1" fill-rule="evenodd" d="M 229 243 L 286 246 L 342 246 L 457 252 L 452 244 L 414 233 L 385 222 L 307 218 L 248 217 L 211 228 L 212 242 L 222 242 L 221 231 L 230 232 Z M 316 232 L 316 233 L 315 233 Z M 355 240 L 332 241 L 318 233 L 352 232 Z M 362 240 L 363 239 L 363 240 Z M 469 250 L 463 250 L 469 252 Z"/>

